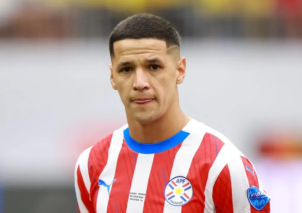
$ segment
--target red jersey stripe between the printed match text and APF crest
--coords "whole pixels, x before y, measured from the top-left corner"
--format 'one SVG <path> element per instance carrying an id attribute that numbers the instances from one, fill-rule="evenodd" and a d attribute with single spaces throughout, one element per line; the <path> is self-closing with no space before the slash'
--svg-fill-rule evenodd
<path id="1" fill-rule="evenodd" d="M 165 186 L 170 180 L 169 178 L 174 158 L 181 144 L 169 149 L 168 151 L 154 155 L 143 212 L 163 212 L 165 203 Z"/>

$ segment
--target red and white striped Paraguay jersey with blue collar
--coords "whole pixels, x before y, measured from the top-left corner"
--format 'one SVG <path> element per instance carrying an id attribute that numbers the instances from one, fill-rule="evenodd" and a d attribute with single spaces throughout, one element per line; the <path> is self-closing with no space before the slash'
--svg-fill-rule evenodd
<path id="1" fill-rule="evenodd" d="M 80 213 L 270 212 L 249 159 L 194 119 L 154 144 L 117 129 L 79 156 L 75 189 Z"/>

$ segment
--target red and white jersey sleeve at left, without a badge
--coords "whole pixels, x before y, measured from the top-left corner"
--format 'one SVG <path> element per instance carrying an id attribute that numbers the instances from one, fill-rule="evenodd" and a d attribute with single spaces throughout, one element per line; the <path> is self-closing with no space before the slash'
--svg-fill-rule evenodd
<path id="1" fill-rule="evenodd" d="M 90 151 L 90 150 L 89 150 Z M 79 156 L 76 162 L 74 178 L 75 178 L 75 190 L 76 199 L 78 203 L 79 213 L 94 213 L 94 207 L 90 200 L 89 188 L 90 180 L 86 174 L 86 167 L 88 171 L 88 156 L 87 149 Z M 87 160 L 86 160 L 87 159 Z"/>

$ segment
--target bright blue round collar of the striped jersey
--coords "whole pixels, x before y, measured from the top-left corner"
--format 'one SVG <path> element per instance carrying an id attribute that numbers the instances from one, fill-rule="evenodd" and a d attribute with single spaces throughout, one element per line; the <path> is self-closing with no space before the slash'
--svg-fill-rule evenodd
<path id="1" fill-rule="evenodd" d="M 182 143 L 184 139 L 188 137 L 188 135 L 190 135 L 190 133 L 181 130 L 171 138 L 158 143 L 139 143 L 133 138 L 131 138 L 129 134 L 129 128 L 124 130 L 124 138 L 129 148 L 132 149 L 134 152 L 142 154 L 155 154 L 167 151 Z"/>

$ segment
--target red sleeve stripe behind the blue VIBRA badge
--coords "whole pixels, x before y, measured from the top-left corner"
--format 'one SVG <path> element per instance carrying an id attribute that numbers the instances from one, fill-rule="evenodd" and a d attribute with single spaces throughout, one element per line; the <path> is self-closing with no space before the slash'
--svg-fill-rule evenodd
<path id="1" fill-rule="evenodd" d="M 244 165 L 244 170 L 246 171 L 246 176 L 247 176 L 247 179 L 249 180 L 250 186 L 256 186 L 257 188 L 259 188 L 258 177 L 255 172 L 255 169 L 252 166 L 252 163 L 249 161 L 249 159 L 247 159 L 245 157 L 241 157 L 241 159 L 242 159 L 242 162 Z M 246 165 L 254 171 L 255 176 L 253 175 L 252 172 L 250 172 L 246 169 Z M 250 206 L 251 206 L 251 212 L 259 212 L 259 213 L 269 213 L 270 212 L 270 202 L 268 202 L 268 204 L 265 205 L 265 208 L 262 208 L 260 211 L 255 210 L 255 208 L 252 205 L 250 205 Z"/>

